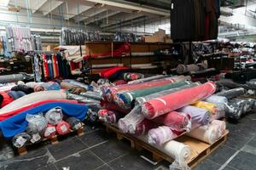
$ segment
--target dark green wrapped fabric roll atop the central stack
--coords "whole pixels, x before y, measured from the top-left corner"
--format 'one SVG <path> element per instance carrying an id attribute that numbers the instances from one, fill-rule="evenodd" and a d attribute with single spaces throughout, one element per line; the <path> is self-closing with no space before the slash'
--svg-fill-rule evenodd
<path id="1" fill-rule="evenodd" d="M 174 82 L 174 83 L 170 83 L 164 86 L 158 86 L 154 88 L 145 88 L 145 89 L 139 89 L 139 90 L 133 90 L 133 91 L 120 92 L 117 94 L 118 99 L 115 102 L 119 106 L 128 108 L 128 107 L 131 107 L 131 102 L 133 101 L 133 99 L 136 99 L 138 97 L 143 97 L 149 94 L 154 94 L 154 93 L 171 89 L 171 88 L 182 87 L 191 83 L 192 82 L 189 82 L 189 81 Z"/>

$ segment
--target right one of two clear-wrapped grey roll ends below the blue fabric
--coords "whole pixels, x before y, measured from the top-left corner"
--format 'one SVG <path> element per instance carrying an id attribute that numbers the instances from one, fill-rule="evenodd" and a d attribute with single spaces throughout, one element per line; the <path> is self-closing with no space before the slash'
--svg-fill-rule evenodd
<path id="1" fill-rule="evenodd" d="M 62 121 L 62 111 L 61 107 L 55 107 L 45 113 L 45 118 L 49 124 L 57 125 L 59 122 Z"/>

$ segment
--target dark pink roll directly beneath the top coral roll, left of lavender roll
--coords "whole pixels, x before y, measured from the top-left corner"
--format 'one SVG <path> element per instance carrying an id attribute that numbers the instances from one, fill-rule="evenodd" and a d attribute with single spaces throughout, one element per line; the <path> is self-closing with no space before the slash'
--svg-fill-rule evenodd
<path id="1" fill-rule="evenodd" d="M 152 121 L 170 127 L 172 130 L 183 131 L 191 129 L 191 116 L 183 112 L 171 111 L 152 119 Z"/>

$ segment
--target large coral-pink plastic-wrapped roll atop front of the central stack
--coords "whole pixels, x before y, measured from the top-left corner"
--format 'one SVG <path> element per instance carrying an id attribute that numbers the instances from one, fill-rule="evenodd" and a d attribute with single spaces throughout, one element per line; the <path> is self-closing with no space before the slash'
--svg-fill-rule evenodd
<path id="1" fill-rule="evenodd" d="M 215 92 L 215 84 L 207 82 L 194 88 L 186 88 L 143 103 L 142 112 L 148 119 L 175 111 L 185 105 L 190 105 L 201 99 L 206 99 Z"/>

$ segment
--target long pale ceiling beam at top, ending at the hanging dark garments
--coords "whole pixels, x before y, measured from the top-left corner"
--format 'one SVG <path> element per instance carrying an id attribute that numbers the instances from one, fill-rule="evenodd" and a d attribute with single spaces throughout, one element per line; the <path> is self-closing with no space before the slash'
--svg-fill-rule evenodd
<path id="1" fill-rule="evenodd" d="M 119 1 L 109 1 L 109 0 L 84 0 L 84 2 L 102 4 L 102 8 L 111 8 L 113 10 L 118 10 L 121 12 L 130 12 L 130 13 L 140 13 L 143 12 L 145 14 L 157 14 L 160 16 L 170 16 L 170 11 L 163 10 L 160 8 L 148 8 L 143 5 L 137 5 L 136 3 L 127 3 L 123 0 Z"/>

